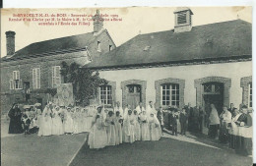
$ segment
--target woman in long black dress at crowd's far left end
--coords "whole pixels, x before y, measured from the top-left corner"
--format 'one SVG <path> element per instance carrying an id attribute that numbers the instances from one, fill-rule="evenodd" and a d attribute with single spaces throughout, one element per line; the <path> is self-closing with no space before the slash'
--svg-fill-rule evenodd
<path id="1" fill-rule="evenodd" d="M 24 132 L 22 127 L 22 112 L 15 103 L 8 113 L 10 117 L 9 134 L 22 134 Z"/>

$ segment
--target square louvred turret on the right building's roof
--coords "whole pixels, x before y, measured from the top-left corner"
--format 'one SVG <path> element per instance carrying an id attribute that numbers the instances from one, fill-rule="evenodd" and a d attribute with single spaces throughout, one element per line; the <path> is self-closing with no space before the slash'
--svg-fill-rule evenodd
<path id="1" fill-rule="evenodd" d="M 174 32 L 190 31 L 193 12 L 187 7 L 181 7 L 177 8 L 173 13 L 175 15 Z"/>

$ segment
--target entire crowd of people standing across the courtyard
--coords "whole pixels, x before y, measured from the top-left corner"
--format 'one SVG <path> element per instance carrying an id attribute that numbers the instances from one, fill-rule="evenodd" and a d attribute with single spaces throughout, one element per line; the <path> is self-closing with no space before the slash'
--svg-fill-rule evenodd
<path id="1" fill-rule="evenodd" d="M 210 138 L 230 142 L 228 129 L 252 126 L 252 112 L 245 105 L 240 105 L 239 109 L 233 104 L 229 108 L 224 106 L 221 114 L 214 104 L 210 105 L 210 111 L 190 104 L 182 109 L 170 106 L 157 111 L 152 101 L 146 109 L 140 102 L 134 110 L 130 105 L 123 109 L 119 102 L 110 108 L 103 105 L 59 106 L 48 102 L 43 111 L 40 108 L 37 103 L 21 111 L 18 104 L 14 104 L 8 114 L 9 134 L 37 133 L 41 137 L 87 132 L 90 148 L 102 148 L 136 140 L 159 140 L 163 128 L 172 131 L 173 136 L 178 133 L 185 136 L 187 131 L 202 133 L 204 126 L 209 129 Z"/>

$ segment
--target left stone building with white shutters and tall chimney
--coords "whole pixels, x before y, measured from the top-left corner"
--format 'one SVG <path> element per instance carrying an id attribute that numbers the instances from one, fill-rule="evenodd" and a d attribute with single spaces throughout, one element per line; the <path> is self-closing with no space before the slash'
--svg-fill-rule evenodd
<path id="1" fill-rule="evenodd" d="M 115 43 L 97 10 L 94 31 L 32 43 L 15 51 L 15 31 L 6 31 L 7 55 L 1 59 L 1 111 L 14 102 L 44 106 L 62 82 L 61 62 L 85 65 L 114 49 Z"/>

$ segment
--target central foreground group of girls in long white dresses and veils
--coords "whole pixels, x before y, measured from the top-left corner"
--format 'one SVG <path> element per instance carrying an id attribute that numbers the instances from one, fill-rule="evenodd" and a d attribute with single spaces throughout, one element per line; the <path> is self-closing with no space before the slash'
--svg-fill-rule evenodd
<path id="1" fill-rule="evenodd" d="M 122 142 L 159 140 L 160 137 L 160 121 L 152 102 L 147 109 L 140 103 L 134 110 L 129 105 L 123 110 L 117 102 L 113 110 L 97 107 L 88 144 L 90 148 L 98 149 Z"/>

